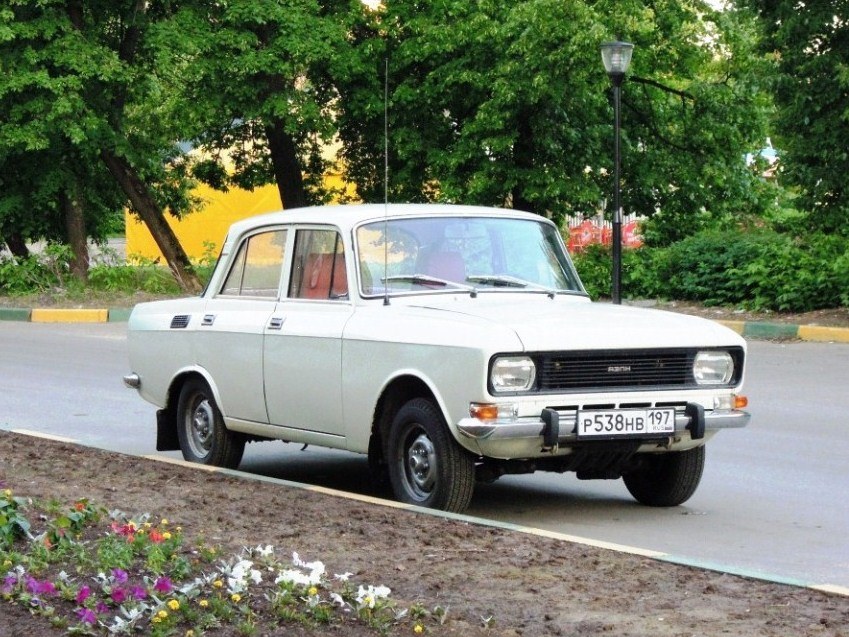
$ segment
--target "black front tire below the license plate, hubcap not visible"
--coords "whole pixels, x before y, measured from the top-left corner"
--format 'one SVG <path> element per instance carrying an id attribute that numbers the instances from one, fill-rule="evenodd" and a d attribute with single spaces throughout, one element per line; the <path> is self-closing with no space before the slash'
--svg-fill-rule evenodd
<path id="1" fill-rule="evenodd" d="M 649 455 L 636 471 L 623 476 L 625 486 L 640 504 L 673 507 L 696 492 L 705 467 L 705 448 Z"/>

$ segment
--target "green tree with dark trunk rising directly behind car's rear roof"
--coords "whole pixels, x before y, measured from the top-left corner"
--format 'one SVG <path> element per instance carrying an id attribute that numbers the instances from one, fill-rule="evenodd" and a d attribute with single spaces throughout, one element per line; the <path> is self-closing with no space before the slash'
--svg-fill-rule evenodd
<path id="1" fill-rule="evenodd" d="M 287 208 L 324 199 L 337 100 L 327 78 L 347 64 L 347 13 L 360 6 L 184 3 L 170 28 L 189 34 L 188 47 L 170 64 L 183 69 L 179 110 L 206 153 L 198 177 L 219 188 L 276 182 Z"/>

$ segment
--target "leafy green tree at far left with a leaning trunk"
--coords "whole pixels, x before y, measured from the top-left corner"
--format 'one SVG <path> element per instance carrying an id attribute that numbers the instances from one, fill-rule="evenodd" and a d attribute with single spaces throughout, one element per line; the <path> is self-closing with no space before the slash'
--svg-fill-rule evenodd
<path id="1" fill-rule="evenodd" d="M 11 0 L 0 10 L 0 108 L 9 114 L 0 145 L 47 151 L 63 162 L 98 158 L 180 285 L 197 291 L 197 275 L 163 213 L 168 207 L 180 214 L 188 204 L 179 162 L 166 161 L 176 138 L 157 119 L 165 87 L 149 37 L 170 7 L 143 0 Z M 70 181 L 61 193 L 70 212 L 84 206 L 79 194 L 86 188 L 79 186 Z"/>

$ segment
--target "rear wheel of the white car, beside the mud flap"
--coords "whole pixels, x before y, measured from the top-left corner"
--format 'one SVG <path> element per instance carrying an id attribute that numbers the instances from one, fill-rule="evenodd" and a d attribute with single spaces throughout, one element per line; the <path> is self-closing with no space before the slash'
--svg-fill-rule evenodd
<path id="1" fill-rule="evenodd" d="M 177 403 L 177 439 L 188 462 L 235 469 L 242 461 L 245 437 L 224 426 L 224 418 L 206 381 L 192 378 Z"/>

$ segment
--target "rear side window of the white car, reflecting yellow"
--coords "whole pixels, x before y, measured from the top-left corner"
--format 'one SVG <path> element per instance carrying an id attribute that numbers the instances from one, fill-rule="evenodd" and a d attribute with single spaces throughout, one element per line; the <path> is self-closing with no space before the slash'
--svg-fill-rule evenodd
<path id="1" fill-rule="evenodd" d="M 248 237 L 239 246 L 221 294 L 277 298 L 285 257 L 286 230 Z"/>

